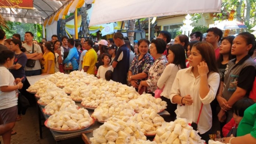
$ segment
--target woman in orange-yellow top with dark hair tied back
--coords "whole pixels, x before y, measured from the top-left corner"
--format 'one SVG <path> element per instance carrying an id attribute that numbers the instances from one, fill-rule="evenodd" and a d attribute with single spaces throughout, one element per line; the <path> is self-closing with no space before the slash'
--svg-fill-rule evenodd
<path id="1" fill-rule="evenodd" d="M 53 74 L 55 73 L 55 53 L 52 49 L 50 42 L 46 42 L 43 47 L 45 53 L 43 54 L 42 59 L 42 75 Z"/>

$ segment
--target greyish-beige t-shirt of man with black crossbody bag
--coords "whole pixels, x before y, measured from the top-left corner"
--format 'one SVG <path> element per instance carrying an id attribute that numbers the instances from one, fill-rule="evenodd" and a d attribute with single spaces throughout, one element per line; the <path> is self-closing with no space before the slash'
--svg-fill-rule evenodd
<path id="1" fill-rule="evenodd" d="M 37 44 L 34 45 L 34 53 L 42 53 L 41 47 Z M 22 44 L 23 47 L 26 48 L 26 54 L 31 54 L 32 53 L 32 46 L 28 46 L 26 43 Z M 40 61 L 36 60 L 36 64 L 33 68 L 28 68 L 25 66 L 25 71 L 35 71 L 41 69 Z"/>

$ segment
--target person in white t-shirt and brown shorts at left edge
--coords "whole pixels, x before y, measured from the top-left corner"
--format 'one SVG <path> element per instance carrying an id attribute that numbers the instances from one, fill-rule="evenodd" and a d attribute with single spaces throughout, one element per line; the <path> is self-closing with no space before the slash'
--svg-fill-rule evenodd
<path id="1" fill-rule="evenodd" d="M 8 70 L 13 61 L 14 52 L 0 52 L 0 135 L 4 144 L 11 142 L 11 131 L 17 118 L 17 90 L 23 87 L 21 78 L 14 79 Z"/>

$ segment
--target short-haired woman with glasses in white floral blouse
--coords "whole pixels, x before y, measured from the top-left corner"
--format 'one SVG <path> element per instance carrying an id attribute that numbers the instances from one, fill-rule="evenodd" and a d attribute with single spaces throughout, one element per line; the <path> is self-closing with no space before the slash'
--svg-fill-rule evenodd
<path id="1" fill-rule="evenodd" d="M 159 80 L 161 74 L 164 72 L 164 68 L 168 61 L 163 55 L 166 50 L 166 42 L 161 38 L 156 38 L 152 40 L 150 46 L 150 54 L 155 58 L 155 62 L 152 67 L 149 68 L 149 74 L 147 80 L 142 80 L 139 85 L 139 91 L 142 86 L 147 87 L 147 93 L 154 96 L 154 92 L 157 89 L 157 81 Z"/>

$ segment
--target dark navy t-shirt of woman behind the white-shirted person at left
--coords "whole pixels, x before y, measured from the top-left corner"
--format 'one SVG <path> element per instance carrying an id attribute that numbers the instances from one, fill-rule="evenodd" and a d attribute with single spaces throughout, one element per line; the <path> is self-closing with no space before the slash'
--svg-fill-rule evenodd
<path id="1" fill-rule="evenodd" d="M 22 78 L 24 77 L 24 79 L 22 81 L 25 80 L 26 76 L 25 76 L 25 66 L 26 66 L 26 62 L 27 62 L 27 57 L 26 54 L 24 52 L 22 52 L 21 54 L 15 54 L 15 58 L 14 58 L 14 62 L 13 64 L 20 64 L 21 67 L 19 69 L 12 69 L 10 70 L 10 72 L 12 73 L 14 78 Z"/>

